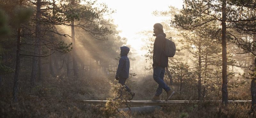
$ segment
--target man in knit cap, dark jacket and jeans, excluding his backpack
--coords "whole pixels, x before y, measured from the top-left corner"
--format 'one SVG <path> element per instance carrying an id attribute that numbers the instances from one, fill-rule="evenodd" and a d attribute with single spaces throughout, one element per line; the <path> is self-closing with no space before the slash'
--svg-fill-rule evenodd
<path id="1" fill-rule="evenodd" d="M 163 51 L 165 47 L 166 34 L 163 31 L 163 25 L 160 23 L 156 23 L 153 30 L 155 33 L 153 36 L 156 36 L 153 50 L 153 78 L 158 84 L 158 88 L 156 89 L 156 94 L 152 98 L 152 101 L 161 100 L 159 96 L 163 92 L 163 89 L 167 92 L 165 101 L 168 101 L 174 91 L 164 83 L 165 67 L 168 67 L 168 57 Z"/>

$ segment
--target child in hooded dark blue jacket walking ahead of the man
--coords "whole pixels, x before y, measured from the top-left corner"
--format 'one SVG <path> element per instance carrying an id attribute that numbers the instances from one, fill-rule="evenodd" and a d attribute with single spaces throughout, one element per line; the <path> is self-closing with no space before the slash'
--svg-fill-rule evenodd
<path id="1" fill-rule="evenodd" d="M 125 81 L 127 78 L 129 78 L 129 70 L 130 70 L 130 60 L 128 58 L 128 53 L 130 51 L 130 48 L 126 46 L 120 47 L 121 49 L 121 58 L 119 59 L 118 68 L 116 70 L 116 80 L 118 80 L 118 83 L 121 85 L 125 85 Z M 125 85 L 126 91 L 131 94 L 131 98 L 129 100 L 132 100 L 133 96 L 135 95 L 134 92 L 130 90 L 130 88 Z"/>

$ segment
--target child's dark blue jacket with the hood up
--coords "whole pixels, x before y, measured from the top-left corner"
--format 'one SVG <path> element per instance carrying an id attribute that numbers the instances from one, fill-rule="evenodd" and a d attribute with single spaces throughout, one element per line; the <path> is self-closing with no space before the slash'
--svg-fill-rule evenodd
<path id="1" fill-rule="evenodd" d="M 121 58 L 119 59 L 118 68 L 116 70 L 116 77 L 129 78 L 130 60 L 127 55 L 130 51 L 130 48 L 122 46 L 120 49 Z"/>

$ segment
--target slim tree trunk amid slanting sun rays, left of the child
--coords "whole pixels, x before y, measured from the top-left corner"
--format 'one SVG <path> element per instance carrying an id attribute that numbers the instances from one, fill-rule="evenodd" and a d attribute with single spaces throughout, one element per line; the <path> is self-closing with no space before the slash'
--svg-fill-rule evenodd
<path id="1" fill-rule="evenodd" d="M 75 0 L 71 1 L 71 4 L 75 6 Z M 79 78 L 78 68 L 77 68 L 77 61 L 76 61 L 76 43 L 75 43 L 75 21 L 71 21 L 71 37 L 72 37 L 72 52 L 73 52 L 73 70 L 74 76 Z"/>

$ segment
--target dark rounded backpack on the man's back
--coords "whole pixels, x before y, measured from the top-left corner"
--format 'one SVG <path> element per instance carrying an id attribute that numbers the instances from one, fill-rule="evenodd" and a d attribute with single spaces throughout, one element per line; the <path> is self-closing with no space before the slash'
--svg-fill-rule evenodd
<path id="1" fill-rule="evenodd" d="M 162 34 L 159 34 L 157 36 L 164 37 L 164 35 L 162 35 Z M 169 38 L 168 39 L 165 38 L 165 45 L 164 45 L 163 51 L 164 51 L 164 54 L 168 57 L 173 57 L 175 55 L 176 46 L 175 46 L 174 42 L 172 41 L 172 37 L 170 37 L 170 40 L 169 40 Z"/>

